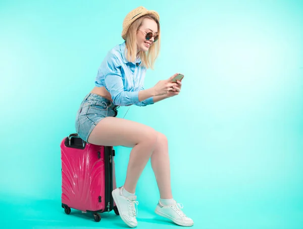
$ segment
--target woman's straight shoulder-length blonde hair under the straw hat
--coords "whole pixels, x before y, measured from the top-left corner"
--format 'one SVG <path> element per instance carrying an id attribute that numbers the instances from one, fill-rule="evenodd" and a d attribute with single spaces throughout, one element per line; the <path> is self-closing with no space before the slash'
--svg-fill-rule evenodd
<path id="1" fill-rule="evenodd" d="M 160 53 L 160 40 L 161 40 L 160 38 L 161 37 L 160 37 L 160 23 L 153 15 L 150 15 L 150 14 L 144 15 L 144 16 L 138 18 L 137 20 L 135 20 L 130 25 L 130 27 L 127 31 L 127 34 L 126 34 L 126 48 L 127 49 L 125 49 L 125 52 L 126 52 L 125 56 L 129 62 L 135 62 L 136 56 L 137 56 L 137 36 L 136 36 L 136 34 L 145 18 L 152 19 L 157 23 L 159 38 L 156 42 L 153 42 L 153 44 L 151 44 L 151 46 L 149 47 L 147 52 L 140 51 L 138 53 L 138 56 L 140 57 L 140 59 L 142 61 L 141 66 L 154 69 L 155 61 Z"/>

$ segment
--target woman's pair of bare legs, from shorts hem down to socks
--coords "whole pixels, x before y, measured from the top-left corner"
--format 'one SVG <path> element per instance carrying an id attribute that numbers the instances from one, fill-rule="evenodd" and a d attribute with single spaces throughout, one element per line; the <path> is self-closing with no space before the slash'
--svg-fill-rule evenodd
<path id="1" fill-rule="evenodd" d="M 137 122 L 107 117 L 97 124 L 88 142 L 133 147 L 124 184 L 125 190 L 130 193 L 135 192 L 137 181 L 150 158 L 160 197 L 172 198 L 168 142 L 164 134 Z"/>

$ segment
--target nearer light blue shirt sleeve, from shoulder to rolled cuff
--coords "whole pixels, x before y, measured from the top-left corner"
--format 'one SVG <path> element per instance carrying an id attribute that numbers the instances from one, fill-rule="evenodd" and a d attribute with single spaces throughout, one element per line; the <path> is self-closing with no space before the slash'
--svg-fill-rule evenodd
<path id="1" fill-rule="evenodd" d="M 116 57 L 107 61 L 105 84 L 112 96 L 113 103 L 117 106 L 129 106 L 140 103 L 139 91 L 125 91 L 120 65 Z M 142 101 L 143 102 L 143 101 Z"/>

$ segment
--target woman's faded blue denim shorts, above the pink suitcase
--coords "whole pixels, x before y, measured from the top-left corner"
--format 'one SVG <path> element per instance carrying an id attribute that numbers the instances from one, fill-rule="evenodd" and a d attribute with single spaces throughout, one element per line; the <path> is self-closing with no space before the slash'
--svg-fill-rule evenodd
<path id="1" fill-rule="evenodd" d="M 100 120 L 117 116 L 118 107 L 102 96 L 87 94 L 76 115 L 75 127 L 79 137 L 87 142 L 89 134 Z"/>

